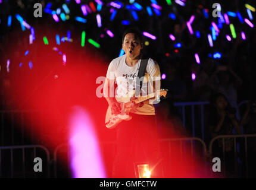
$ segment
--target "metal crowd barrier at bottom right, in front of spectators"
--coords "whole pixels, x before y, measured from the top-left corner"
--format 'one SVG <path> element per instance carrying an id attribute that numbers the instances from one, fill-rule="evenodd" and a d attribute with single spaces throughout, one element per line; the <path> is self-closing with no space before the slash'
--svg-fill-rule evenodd
<path id="1" fill-rule="evenodd" d="M 248 135 L 219 135 L 217 137 L 214 137 L 211 141 L 210 141 L 210 145 L 209 145 L 209 153 L 211 155 L 214 155 L 214 142 L 216 142 L 217 140 L 221 140 L 221 148 L 222 148 L 222 155 L 221 157 L 223 157 L 223 160 L 221 160 L 221 162 L 223 161 L 224 164 L 223 166 L 226 167 L 226 157 L 225 157 L 225 154 L 227 154 L 227 152 L 225 151 L 225 146 L 226 143 L 225 143 L 225 140 L 227 139 L 233 139 L 233 159 L 234 159 L 234 168 L 235 168 L 235 172 L 238 172 L 238 152 L 237 152 L 237 146 L 238 146 L 238 143 L 240 144 L 240 147 L 241 147 L 241 144 L 243 144 L 243 141 L 239 141 L 238 138 L 244 138 L 244 153 L 245 153 L 245 157 L 243 157 L 243 150 L 240 150 L 241 153 L 240 154 L 240 157 L 242 158 L 242 162 L 243 162 L 243 166 L 245 165 L 245 176 L 246 178 L 248 177 L 248 138 L 252 138 L 254 137 L 255 138 L 255 142 L 256 143 L 256 134 L 248 134 Z M 217 142 L 217 143 L 220 143 Z M 252 144 L 251 144 L 252 145 Z M 256 144 L 255 144 L 256 146 Z M 219 149 L 219 147 L 218 147 Z M 256 150 L 256 149 L 255 149 Z M 255 154 L 256 151 L 252 150 L 253 153 Z M 239 159 L 240 160 L 240 159 Z M 230 162 L 230 160 L 229 160 Z M 255 161 L 254 161 L 255 162 Z M 254 171 L 255 172 L 255 171 Z M 226 171 L 224 170 L 224 174 L 226 173 Z"/>

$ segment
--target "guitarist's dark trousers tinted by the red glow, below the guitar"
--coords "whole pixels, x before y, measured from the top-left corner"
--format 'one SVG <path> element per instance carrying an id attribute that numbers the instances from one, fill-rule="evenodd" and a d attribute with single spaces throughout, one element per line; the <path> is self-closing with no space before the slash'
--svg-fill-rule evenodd
<path id="1" fill-rule="evenodd" d="M 161 156 L 155 116 L 130 114 L 130 121 L 121 122 L 117 130 L 117 153 L 113 178 L 135 178 L 135 164 L 149 164 L 151 178 L 161 178 Z M 136 166 L 136 167 L 135 167 Z"/>

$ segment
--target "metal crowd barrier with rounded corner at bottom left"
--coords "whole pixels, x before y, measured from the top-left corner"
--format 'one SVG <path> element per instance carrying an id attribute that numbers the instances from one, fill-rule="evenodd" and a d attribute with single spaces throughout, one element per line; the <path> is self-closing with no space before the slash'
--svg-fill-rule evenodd
<path id="1" fill-rule="evenodd" d="M 37 151 L 38 149 L 41 151 Z M 7 153 L 7 151 L 10 153 Z M 42 172 L 34 171 L 34 165 L 36 164 L 34 159 L 36 157 L 42 159 Z M 0 178 L 49 178 L 49 164 L 49 151 L 42 145 L 0 147 Z M 46 167 L 44 167 L 45 165 Z"/>

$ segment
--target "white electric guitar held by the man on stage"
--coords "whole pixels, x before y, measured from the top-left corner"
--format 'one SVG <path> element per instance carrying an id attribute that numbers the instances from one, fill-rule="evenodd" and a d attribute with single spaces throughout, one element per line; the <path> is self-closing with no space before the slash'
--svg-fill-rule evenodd
<path id="1" fill-rule="evenodd" d="M 167 89 L 158 90 L 156 93 L 151 93 L 146 96 L 137 97 L 136 99 L 131 100 L 131 97 L 135 97 L 135 90 L 129 91 L 124 97 L 115 97 L 117 102 L 121 105 L 121 113 L 118 115 L 113 115 L 111 113 L 111 107 L 108 106 L 108 110 L 105 118 L 105 125 L 108 129 L 115 128 L 121 121 L 126 120 L 129 121 L 132 119 L 132 116 L 129 115 L 130 110 L 132 110 L 133 106 L 139 103 L 142 103 L 148 99 L 152 99 L 157 97 L 156 103 L 160 102 L 160 97 L 166 97 Z"/>

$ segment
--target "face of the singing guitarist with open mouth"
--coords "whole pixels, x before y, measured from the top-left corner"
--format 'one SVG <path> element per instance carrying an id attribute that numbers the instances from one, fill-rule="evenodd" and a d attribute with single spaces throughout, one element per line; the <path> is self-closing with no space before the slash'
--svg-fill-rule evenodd
<path id="1" fill-rule="evenodd" d="M 136 38 L 135 34 L 128 33 L 124 37 L 124 42 L 122 44 L 122 49 L 126 53 L 126 56 L 129 58 L 136 59 L 141 54 L 142 43 L 138 38 Z"/>

